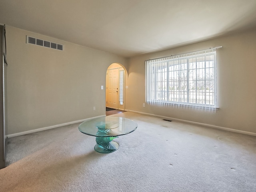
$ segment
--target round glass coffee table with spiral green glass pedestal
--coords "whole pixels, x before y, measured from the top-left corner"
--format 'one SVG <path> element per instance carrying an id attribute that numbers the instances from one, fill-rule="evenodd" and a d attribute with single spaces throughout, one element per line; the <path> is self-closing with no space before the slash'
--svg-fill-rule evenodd
<path id="1" fill-rule="evenodd" d="M 78 130 L 96 137 L 94 149 L 97 152 L 111 153 L 119 148 L 119 144 L 113 139 L 133 132 L 137 126 L 136 122 L 128 118 L 106 116 L 82 122 Z"/>

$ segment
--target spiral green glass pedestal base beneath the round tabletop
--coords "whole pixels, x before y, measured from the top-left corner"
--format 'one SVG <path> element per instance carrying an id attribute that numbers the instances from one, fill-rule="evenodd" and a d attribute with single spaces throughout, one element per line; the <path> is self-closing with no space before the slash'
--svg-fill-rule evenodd
<path id="1" fill-rule="evenodd" d="M 96 145 L 94 146 L 94 150 L 99 153 L 111 153 L 119 148 L 119 144 L 115 141 L 112 141 L 116 137 L 96 137 Z"/>

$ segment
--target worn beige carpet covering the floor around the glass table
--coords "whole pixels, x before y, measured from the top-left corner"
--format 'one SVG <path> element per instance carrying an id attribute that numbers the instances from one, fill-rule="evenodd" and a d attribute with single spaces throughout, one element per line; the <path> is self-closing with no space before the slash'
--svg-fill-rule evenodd
<path id="1" fill-rule="evenodd" d="M 78 124 L 9 138 L 1 192 L 254 192 L 256 138 L 125 112 L 134 132 L 110 154 Z"/>

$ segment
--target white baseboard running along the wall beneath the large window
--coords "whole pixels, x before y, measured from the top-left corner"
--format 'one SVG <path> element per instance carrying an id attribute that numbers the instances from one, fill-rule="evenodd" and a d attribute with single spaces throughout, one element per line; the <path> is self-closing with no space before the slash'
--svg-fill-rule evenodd
<path id="1" fill-rule="evenodd" d="M 139 114 L 144 114 L 144 115 L 155 116 L 155 117 L 160 117 L 160 118 L 167 119 L 167 120 L 172 120 L 172 121 L 180 121 L 180 122 L 196 124 L 196 125 L 206 126 L 206 127 L 220 129 L 220 130 L 225 130 L 225 131 L 230 131 L 230 132 L 236 132 L 236 133 L 256 136 L 256 133 L 254 133 L 254 132 L 248 132 L 248 131 L 242 131 L 242 130 L 231 129 L 231 128 L 226 128 L 226 127 L 220 127 L 220 126 L 216 126 L 216 125 L 209 125 L 209 124 L 204 124 L 204 123 L 198 123 L 198 122 L 194 122 L 194 121 L 187 121 L 187 120 L 182 120 L 182 119 L 170 118 L 170 117 L 165 117 L 165 116 L 160 116 L 160 115 L 155 115 L 155 114 L 150 114 L 150 113 L 144 113 L 144 112 L 138 112 L 138 111 L 133 111 L 133 110 L 126 110 L 126 111 L 130 111 L 130 112 L 134 112 L 134 113 L 139 113 Z"/>

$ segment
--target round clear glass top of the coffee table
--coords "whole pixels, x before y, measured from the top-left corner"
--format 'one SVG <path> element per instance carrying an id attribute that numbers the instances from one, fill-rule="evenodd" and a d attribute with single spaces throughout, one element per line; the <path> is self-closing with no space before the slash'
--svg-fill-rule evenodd
<path id="1" fill-rule="evenodd" d="M 137 128 L 137 123 L 123 117 L 100 117 L 82 122 L 78 130 L 96 137 L 112 137 L 125 135 Z"/>

